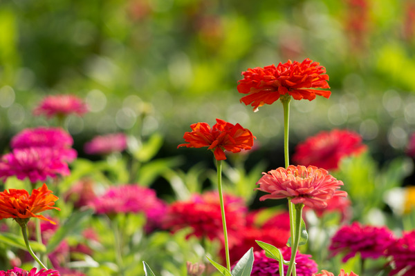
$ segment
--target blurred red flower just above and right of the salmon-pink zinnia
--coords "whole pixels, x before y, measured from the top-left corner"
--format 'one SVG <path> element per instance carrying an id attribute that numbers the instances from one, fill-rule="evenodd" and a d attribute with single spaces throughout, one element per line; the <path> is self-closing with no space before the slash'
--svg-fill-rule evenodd
<path id="1" fill-rule="evenodd" d="M 367 149 L 362 137 L 350 130 L 322 131 L 309 137 L 295 148 L 293 161 L 303 166 L 317 166 L 326 170 L 337 169 L 340 161 L 358 155 Z"/>

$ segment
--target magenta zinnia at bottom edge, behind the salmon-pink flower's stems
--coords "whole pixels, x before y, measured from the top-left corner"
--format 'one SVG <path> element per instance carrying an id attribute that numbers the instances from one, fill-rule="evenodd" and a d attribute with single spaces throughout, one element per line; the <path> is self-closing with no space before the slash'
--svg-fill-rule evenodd
<path id="1" fill-rule="evenodd" d="M 280 248 L 284 259 L 291 258 L 291 248 Z M 311 255 L 305 255 L 297 252 L 295 255 L 295 269 L 297 270 L 297 276 L 310 276 L 313 273 L 317 273 L 317 264 L 310 259 Z M 288 266 L 284 265 L 284 270 Z M 252 266 L 251 276 L 279 276 L 279 264 L 275 259 L 266 257 L 265 251 L 254 252 L 254 265 Z"/>

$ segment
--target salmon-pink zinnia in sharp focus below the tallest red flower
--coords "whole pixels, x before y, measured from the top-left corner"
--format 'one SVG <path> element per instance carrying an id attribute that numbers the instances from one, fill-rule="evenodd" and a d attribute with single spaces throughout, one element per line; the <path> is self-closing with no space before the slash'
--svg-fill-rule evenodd
<path id="1" fill-rule="evenodd" d="M 263 172 L 263 177 L 257 184 L 261 190 L 269 195 L 263 195 L 265 199 L 291 199 L 293 204 L 304 204 L 311 208 L 324 208 L 331 197 L 346 197 L 347 193 L 338 190 L 343 182 L 335 179 L 329 173 L 315 166 L 288 166 L 277 168 L 268 173 Z"/>

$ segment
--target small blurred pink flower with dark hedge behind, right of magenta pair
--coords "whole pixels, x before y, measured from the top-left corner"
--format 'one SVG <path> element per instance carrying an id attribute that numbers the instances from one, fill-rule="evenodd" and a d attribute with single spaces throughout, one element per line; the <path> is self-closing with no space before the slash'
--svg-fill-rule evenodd
<path id="1" fill-rule="evenodd" d="M 84 151 L 89 155 L 109 155 L 113 152 L 122 152 L 127 148 L 127 135 L 113 133 L 96 136 L 84 145 Z"/>

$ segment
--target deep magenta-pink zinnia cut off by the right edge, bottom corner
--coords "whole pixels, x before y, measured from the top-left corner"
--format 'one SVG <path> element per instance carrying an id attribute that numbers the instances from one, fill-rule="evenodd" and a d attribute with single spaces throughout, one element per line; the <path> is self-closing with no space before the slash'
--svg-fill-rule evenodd
<path id="1" fill-rule="evenodd" d="M 415 230 L 404 232 L 403 237 L 387 248 L 387 256 L 391 256 L 391 264 L 394 268 L 389 275 L 398 275 L 401 270 L 405 274 L 415 275 Z"/>

